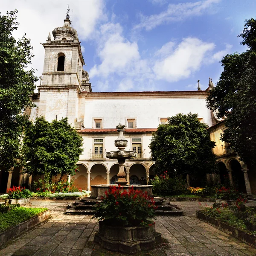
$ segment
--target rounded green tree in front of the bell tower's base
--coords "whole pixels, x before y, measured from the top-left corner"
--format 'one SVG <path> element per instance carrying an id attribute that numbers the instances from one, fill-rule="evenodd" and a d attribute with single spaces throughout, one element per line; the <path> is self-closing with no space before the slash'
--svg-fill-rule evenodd
<path id="1" fill-rule="evenodd" d="M 43 174 L 45 181 L 52 175 L 75 175 L 76 163 L 83 149 L 82 137 L 67 118 L 47 122 L 36 118 L 25 131 L 23 140 L 24 169 L 30 174 Z"/>

